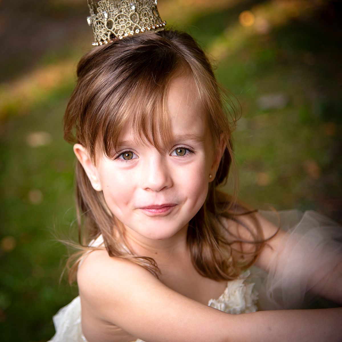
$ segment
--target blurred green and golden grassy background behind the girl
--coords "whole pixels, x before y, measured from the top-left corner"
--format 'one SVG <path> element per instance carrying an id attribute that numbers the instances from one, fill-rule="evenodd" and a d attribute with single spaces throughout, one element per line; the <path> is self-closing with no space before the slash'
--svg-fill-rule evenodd
<path id="1" fill-rule="evenodd" d="M 341 3 L 160 0 L 159 10 L 198 39 L 241 104 L 240 198 L 342 222 Z M 62 117 L 92 38 L 85 0 L 0 2 L 0 13 L 0 336 L 47 341 L 77 295 L 58 283 L 67 249 L 57 239 L 75 237 Z"/>

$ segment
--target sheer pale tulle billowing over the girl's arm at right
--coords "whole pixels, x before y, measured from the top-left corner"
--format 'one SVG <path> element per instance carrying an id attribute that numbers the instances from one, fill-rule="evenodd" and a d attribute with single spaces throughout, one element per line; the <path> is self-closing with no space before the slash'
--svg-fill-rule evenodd
<path id="1" fill-rule="evenodd" d="M 307 307 L 342 262 L 342 227 L 318 212 L 260 211 L 269 221 L 287 231 L 281 251 L 269 261 L 268 275 L 257 275 L 260 310 Z"/>

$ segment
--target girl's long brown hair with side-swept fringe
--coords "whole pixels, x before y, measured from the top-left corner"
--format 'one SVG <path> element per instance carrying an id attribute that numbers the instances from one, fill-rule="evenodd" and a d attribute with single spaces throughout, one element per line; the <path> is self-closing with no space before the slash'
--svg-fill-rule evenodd
<path id="1" fill-rule="evenodd" d="M 226 195 L 218 186 L 226 182 L 233 166 L 231 133 L 236 115 L 229 97 L 222 97 L 212 67 L 195 40 L 184 32 L 164 30 L 127 37 L 121 41 L 92 49 L 77 67 L 78 83 L 71 95 L 64 117 L 64 138 L 80 143 L 95 161 L 100 147 L 108 157 L 116 149 L 125 123 L 133 122 L 137 139 L 147 140 L 162 149 L 169 139 L 167 94 L 174 77 L 187 73 L 195 81 L 198 96 L 207 113 L 214 144 L 227 142 L 215 180 L 210 183 L 205 203 L 190 220 L 187 244 L 197 271 L 211 279 L 236 278 L 241 269 L 251 265 L 263 245 L 258 220 L 235 196 Z M 109 211 L 102 192 L 96 192 L 81 164 L 76 165 L 76 199 L 79 228 L 79 261 L 89 241 L 103 235 L 110 256 L 126 258 L 158 276 L 152 258 L 136 256 L 125 244 L 122 224 Z M 228 234 L 220 218 L 238 221 L 251 214 L 254 250 L 248 261 L 232 258 L 232 244 L 241 241 Z M 229 233 L 229 232 L 228 232 Z M 114 238 L 114 236 L 116 238 Z M 119 242 L 120 241 L 120 242 Z M 122 244 L 127 251 L 123 251 Z M 69 260 L 70 261 L 70 260 Z M 78 262 L 69 269 L 69 280 L 75 278 Z"/>

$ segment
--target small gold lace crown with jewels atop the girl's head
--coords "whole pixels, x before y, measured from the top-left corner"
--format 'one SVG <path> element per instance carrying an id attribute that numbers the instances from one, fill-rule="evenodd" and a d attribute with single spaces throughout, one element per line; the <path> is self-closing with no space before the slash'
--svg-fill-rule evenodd
<path id="1" fill-rule="evenodd" d="M 157 0 L 88 0 L 95 41 L 102 45 L 145 31 L 160 31 L 166 25 L 161 21 Z"/>

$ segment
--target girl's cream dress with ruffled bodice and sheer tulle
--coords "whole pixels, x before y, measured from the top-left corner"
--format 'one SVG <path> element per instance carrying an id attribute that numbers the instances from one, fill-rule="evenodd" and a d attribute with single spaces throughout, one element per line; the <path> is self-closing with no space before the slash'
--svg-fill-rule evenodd
<path id="1" fill-rule="evenodd" d="M 260 211 L 278 225 L 277 215 Z M 269 261 L 269 274 L 252 268 L 228 281 L 224 293 L 208 303 L 229 314 L 302 308 L 312 300 L 311 289 L 329 276 L 342 260 L 342 227 L 315 212 L 277 212 L 287 240 L 281 253 Z M 100 246 L 100 236 L 92 242 Z M 257 307 L 258 305 L 258 307 Z M 76 297 L 53 317 L 56 333 L 50 342 L 87 342 L 81 328 L 81 302 Z M 136 342 L 143 342 L 136 340 Z"/>

